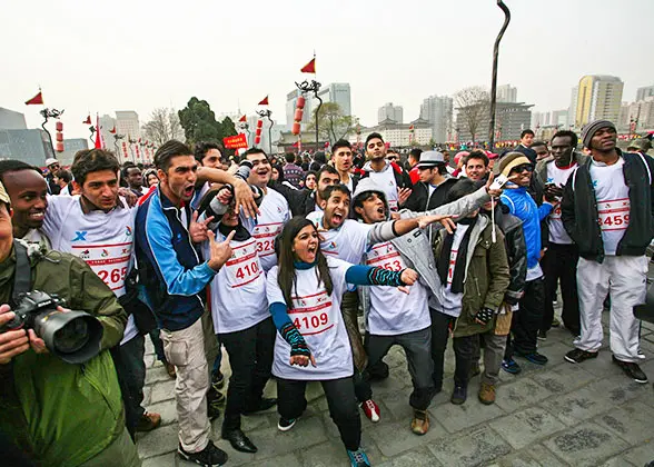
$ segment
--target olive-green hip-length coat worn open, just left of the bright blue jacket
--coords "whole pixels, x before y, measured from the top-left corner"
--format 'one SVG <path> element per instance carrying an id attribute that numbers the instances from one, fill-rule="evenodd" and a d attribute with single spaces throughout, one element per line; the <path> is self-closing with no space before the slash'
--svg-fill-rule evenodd
<path id="1" fill-rule="evenodd" d="M 495 318 L 486 326 L 479 325 L 474 317 L 482 308 L 497 310 L 511 282 L 504 235 L 496 228 L 497 241 L 492 240 L 490 221 L 479 215 L 470 232 L 470 244 L 466 258 L 464 277 L 463 308 L 454 328 L 454 337 L 473 336 L 492 330 Z M 445 230 L 434 239 L 434 257 L 440 256 Z"/>

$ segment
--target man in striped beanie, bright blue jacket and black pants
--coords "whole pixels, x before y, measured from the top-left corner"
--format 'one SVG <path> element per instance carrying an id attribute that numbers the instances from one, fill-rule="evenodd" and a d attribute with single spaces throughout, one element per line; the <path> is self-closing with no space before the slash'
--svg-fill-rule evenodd
<path id="1" fill-rule="evenodd" d="M 512 177 L 501 196 L 508 211 L 523 221 L 525 244 L 527 246 L 527 277 L 524 295 L 518 304 L 518 311 L 513 322 L 502 368 L 511 374 L 518 374 L 521 367 L 513 355 L 526 358 L 533 364 L 545 365 L 547 357 L 538 354 L 536 348 L 538 329 L 543 321 L 545 302 L 545 282 L 541 260 L 541 221 L 552 212 L 553 205 L 545 201 L 538 207 L 527 189 L 532 183 L 534 165 L 522 152 L 509 152 L 495 166 L 496 172 Z"/>

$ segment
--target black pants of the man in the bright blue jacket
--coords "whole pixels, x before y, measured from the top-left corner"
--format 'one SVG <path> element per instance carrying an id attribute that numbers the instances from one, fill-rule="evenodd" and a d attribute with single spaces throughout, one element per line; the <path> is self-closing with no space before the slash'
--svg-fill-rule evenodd
<path id="1" fill-rule="evenodd" d="M 545 280 L 541 277 L 525 282 L 525 295 L 518 304 L 518 310 L 513 314 L 511 322 L 511 332 L 507 337 L 506 351 L 504 352 L 506 360 L 513 358 L 514 350 L 521 354 L 536 351 L 538 329 L 543 324 L 544 307 Z"/>

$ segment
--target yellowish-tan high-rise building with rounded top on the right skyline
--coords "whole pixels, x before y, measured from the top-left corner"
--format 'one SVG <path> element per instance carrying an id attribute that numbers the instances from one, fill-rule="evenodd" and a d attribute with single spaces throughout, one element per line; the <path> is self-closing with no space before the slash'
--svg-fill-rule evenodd
<path id="1" fill-rule="evenodd" d="M 616 122 L 620 116 L 624 82 L 617 77 L 588 74 L 582 77 L 577 92 L 575 127 L 604 119 Z"/>

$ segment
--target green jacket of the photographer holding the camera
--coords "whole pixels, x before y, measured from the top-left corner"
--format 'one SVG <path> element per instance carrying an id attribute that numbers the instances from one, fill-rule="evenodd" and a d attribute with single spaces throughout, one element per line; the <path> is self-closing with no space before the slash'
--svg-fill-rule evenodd
<path id="1" fill-rule="evenodd" d="M 120 342 L 127 315 L 81 259 L 30 247 L 32 289 L 58 294 L 66 307 L 97 316 L 102 351 L 83 365 L 31 349 L 0 365 L 0 433 L 43 466 L 78 466 L 123 430 L 120 388 L 108 348 Z M 9 304 L 16 250 L 0 264 L 0 304 Z"/>

